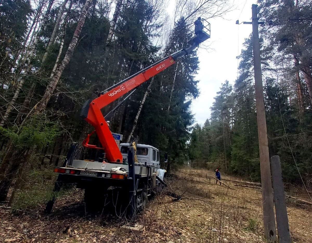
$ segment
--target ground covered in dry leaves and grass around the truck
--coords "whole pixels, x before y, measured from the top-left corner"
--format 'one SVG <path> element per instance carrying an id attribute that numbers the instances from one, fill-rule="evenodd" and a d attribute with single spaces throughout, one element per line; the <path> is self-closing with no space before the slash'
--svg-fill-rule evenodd
<path id="1" fill-rule="evenodd" d="M 150 200 L 138 223 L 139 235 L 121 232 L 123 219 L 115 212 L 85 212 L 83 190 L 57 199 L 51 215 L 44 204 L 36 210 L 12 213 L 0 205 L 0 242 L 266 242 L 263 234 L 261 190 L 215 184 L 212 171 L 180 170 L 168 181 L 181 201 L 158 195 Z M 236 179 L 223 176 L 222 179 Z M 288 202 L 294 242 L 312 242 L 311 207 Z"/>

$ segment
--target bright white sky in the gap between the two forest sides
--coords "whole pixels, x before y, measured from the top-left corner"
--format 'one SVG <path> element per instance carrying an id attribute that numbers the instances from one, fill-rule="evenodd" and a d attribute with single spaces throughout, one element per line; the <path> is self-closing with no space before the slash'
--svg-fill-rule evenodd
<path id="1" fill-rule="evenodd" d="M 170 0 L 167 10 L 169 15 L 173 12 L 174 2 Z M 198 50 L 200 69 L 196 79 L 199 80 L 200 95 L 193 100 L 191 106 L 196 122 L 200 124 L 210 118 L 213 97 L 216 96 L 221 84 L 225 80 L 233 84 L 236 79 L 237 48 L 240 53 L 244 39 L 251 33 L 251 25 L 236 25 L 235 22 L 240 13 L 240 22 L 251 21 L 251 5 L 256 2 L 256 0 L 234 0 L 235 10 L 223 16 L 223 19 L 219 17 L 208 20 L 211 24 L 211 38 L 206 40 L 205 44 L 210 43 L 211 50 Z"/>

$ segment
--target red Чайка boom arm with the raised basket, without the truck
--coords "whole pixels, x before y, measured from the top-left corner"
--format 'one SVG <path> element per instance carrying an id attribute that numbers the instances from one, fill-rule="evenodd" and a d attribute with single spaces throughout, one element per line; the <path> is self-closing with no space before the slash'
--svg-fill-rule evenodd
<path id="1" fill-rule="evenodd" d="M 110 131 L 110 128 L 105 121 L 105 118 L 101 112 L 101 109 L 112 103 L 116 99 L 120 98 L 129 91 L 136 89 L 139 85 L 146 82 L 156 74 L 164 71 L 169 66 L 175 64 L 179 57 L 188 54 L 190 51 L 194 50 L 200 43 L 210 38 L 210 25 L 209 32 L 205 32 L 203 29 L 206 28 L 203 25 L 204 20 L 195 21 L 195 36 L 188 40 L 191 44 L 190 47 L 181 49 L 172 55 L 163 58 L 162 60 L 155 62 L 151 66 L 144 68 L 138 73 L 120 81 L 119 83 L 106 89 L 100 96 L 92 101 L 88 100 L 84 104 L 80 116 L 90 123 L 94 128 L 95 132 L 99 138 L 102 147 L 97 147 L 96 145 L 89 144 L 90 136 L 94 133 L 88 135 L 88 137 L 83 142 L 83 146 L 88 148 L 103 149 L 106 154 L 106 160 L 113 163 L 122 163 L 123 157 L 119 151 L 119 147 L 115 142 L 115 139 Z"/>

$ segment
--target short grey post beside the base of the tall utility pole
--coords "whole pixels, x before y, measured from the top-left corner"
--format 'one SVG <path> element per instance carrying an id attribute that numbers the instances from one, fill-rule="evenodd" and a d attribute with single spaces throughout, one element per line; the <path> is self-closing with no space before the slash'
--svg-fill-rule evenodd
<path id="1" fill-rule="evenodd" d="M 282 180 L 282 169 L 280 167 L 280 157 L 271 157 L 272 180 L 274 189 L 274 201 L 276 212 L 277 232 L 280 243 L 291 243 L 287 209 L 285 203 L 285 190 Z"/>

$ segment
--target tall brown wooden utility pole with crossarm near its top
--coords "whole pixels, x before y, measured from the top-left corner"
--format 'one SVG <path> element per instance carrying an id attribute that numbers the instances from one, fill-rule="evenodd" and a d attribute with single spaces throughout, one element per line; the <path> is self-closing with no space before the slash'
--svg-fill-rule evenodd
<path id="1" fill-rule="evenodd" d="M 252 4 L 252 43 L 255 70 L 256 88 L 256 109 L 258 124 L 258 140 L 260 154 L 261 187 L 262 187 L 262 208 L 263 225 L 265 237 L 268 241 L 276 239 L 275 218 L 273 210 L 273 193 L 270 171 L 270 157 L 268 147 L 268 137 L 266 131 L 266 113 L 263 100 L 262 74 L 260 63 L 260 44 L 258 33 L 257 6 Z"/>

